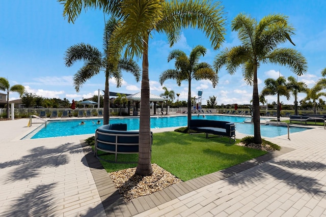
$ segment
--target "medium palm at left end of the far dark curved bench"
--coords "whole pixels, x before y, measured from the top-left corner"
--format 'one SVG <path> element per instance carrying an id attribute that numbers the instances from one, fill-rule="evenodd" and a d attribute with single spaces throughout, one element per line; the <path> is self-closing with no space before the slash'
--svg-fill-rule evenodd
<path id="1" fill-rule="evenodd" d="M 180 86 L 181 81 L 188 81 L 188 128 L 189 121 L 192 119 L 192 80 L 208 79 L 212 82 L 213 87 L 218 84 L 218 74 L 207 63 L 198 63 L 199 57 L 205 55 L 206 48 L 198 45 L 190 53 L 189 57 L 181 50 L 172 50 L 168 56 L 168 61 L 175 59 L 175 69 L 168 69 L 161 73 L 159 82 L 161 85 L 168 79 L 175 79 Z"/>

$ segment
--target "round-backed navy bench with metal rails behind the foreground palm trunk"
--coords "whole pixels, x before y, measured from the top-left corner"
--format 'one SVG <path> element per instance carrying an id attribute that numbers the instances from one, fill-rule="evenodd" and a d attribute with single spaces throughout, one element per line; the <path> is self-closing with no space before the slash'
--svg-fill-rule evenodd
<path id="1" fill-rule="evenodd" d="M 152 144 L 151 132 L 151 144 Z M 114 123 L 112 125 L 103 125 L 95 131 L 95 151 L 94 156 L 101 159 L 97 151 L 101 150 L 107 153 L 115 154 L 115 161 L 118 162 L 118 153 L 130 154 L 139 151 L 139 131 L 127 131 L 125 123 Z M 101 159 L 103 160 L 103 159 Z M 104 160 L 107 161 L 107 160 Z M 119 163 L 137 163 L 137 162 L 119 162 Z"/>

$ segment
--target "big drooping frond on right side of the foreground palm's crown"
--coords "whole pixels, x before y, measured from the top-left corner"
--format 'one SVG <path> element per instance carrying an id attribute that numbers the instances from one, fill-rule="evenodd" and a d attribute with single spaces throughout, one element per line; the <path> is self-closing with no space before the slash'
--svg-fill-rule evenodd
<path id="1" fill-rule="evenodd" d="M 225 18 L 223 7 L 218 1 L 173 0 L 164 4 L 164 18 L 156 23 L 157 32 L 168 33 L 170 46 L 178 38 L 180 29 L 199 28 L 209 38 L 213 49 L 221 47 L 225 35 Z"/>

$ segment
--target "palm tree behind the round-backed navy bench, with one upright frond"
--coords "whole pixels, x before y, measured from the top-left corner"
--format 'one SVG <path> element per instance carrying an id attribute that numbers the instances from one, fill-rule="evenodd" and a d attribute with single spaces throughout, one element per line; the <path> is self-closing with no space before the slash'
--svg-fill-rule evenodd
<path id="1" fill-rule="evenodd" d="M 141 69 L 138 64 L 127 58 L 118 60 L 118 65 L 115 67 L 108 61 L 108 46 L 113 30 L 119 25 L 119 22 L 111 18 L 105 24 L 103 35 L 104 52 L 101 53 L 96 47 L 89 44 L 79 43 L 69 47 L 65 53 L 65 64 L 71 67 L 77 60 L 84 60 L 85 64 L 74 75 L 75 90 L 79 92 L 80 87 L 94 75 L 100 71 L 105 72 L 105 89 L 104 89 L 104 105 L 103 105 L 103 124 L 108 125 L 110 118 L 110 96 L 108 80 L 112 77 L 117 81 L 117 87 L 121 86 L 121 70 L 130 72 L 137 80 L 140 79 Z M 119 51 L 117 51 L 119 52 Z"/>

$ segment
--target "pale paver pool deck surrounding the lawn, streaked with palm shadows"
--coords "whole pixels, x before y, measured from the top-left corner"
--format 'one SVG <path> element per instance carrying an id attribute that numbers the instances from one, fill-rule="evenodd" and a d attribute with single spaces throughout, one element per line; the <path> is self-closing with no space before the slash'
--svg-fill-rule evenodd
<path id="1" fill-rule="evenodd" d="M 20 140 L 38 127 L 28 121 L 0 121 L 0 216 L 326 216 L 323 127 L 268 138 L 283 147 L 269 159 L 123 203 L 80 142 L 93 134 Z"/>

